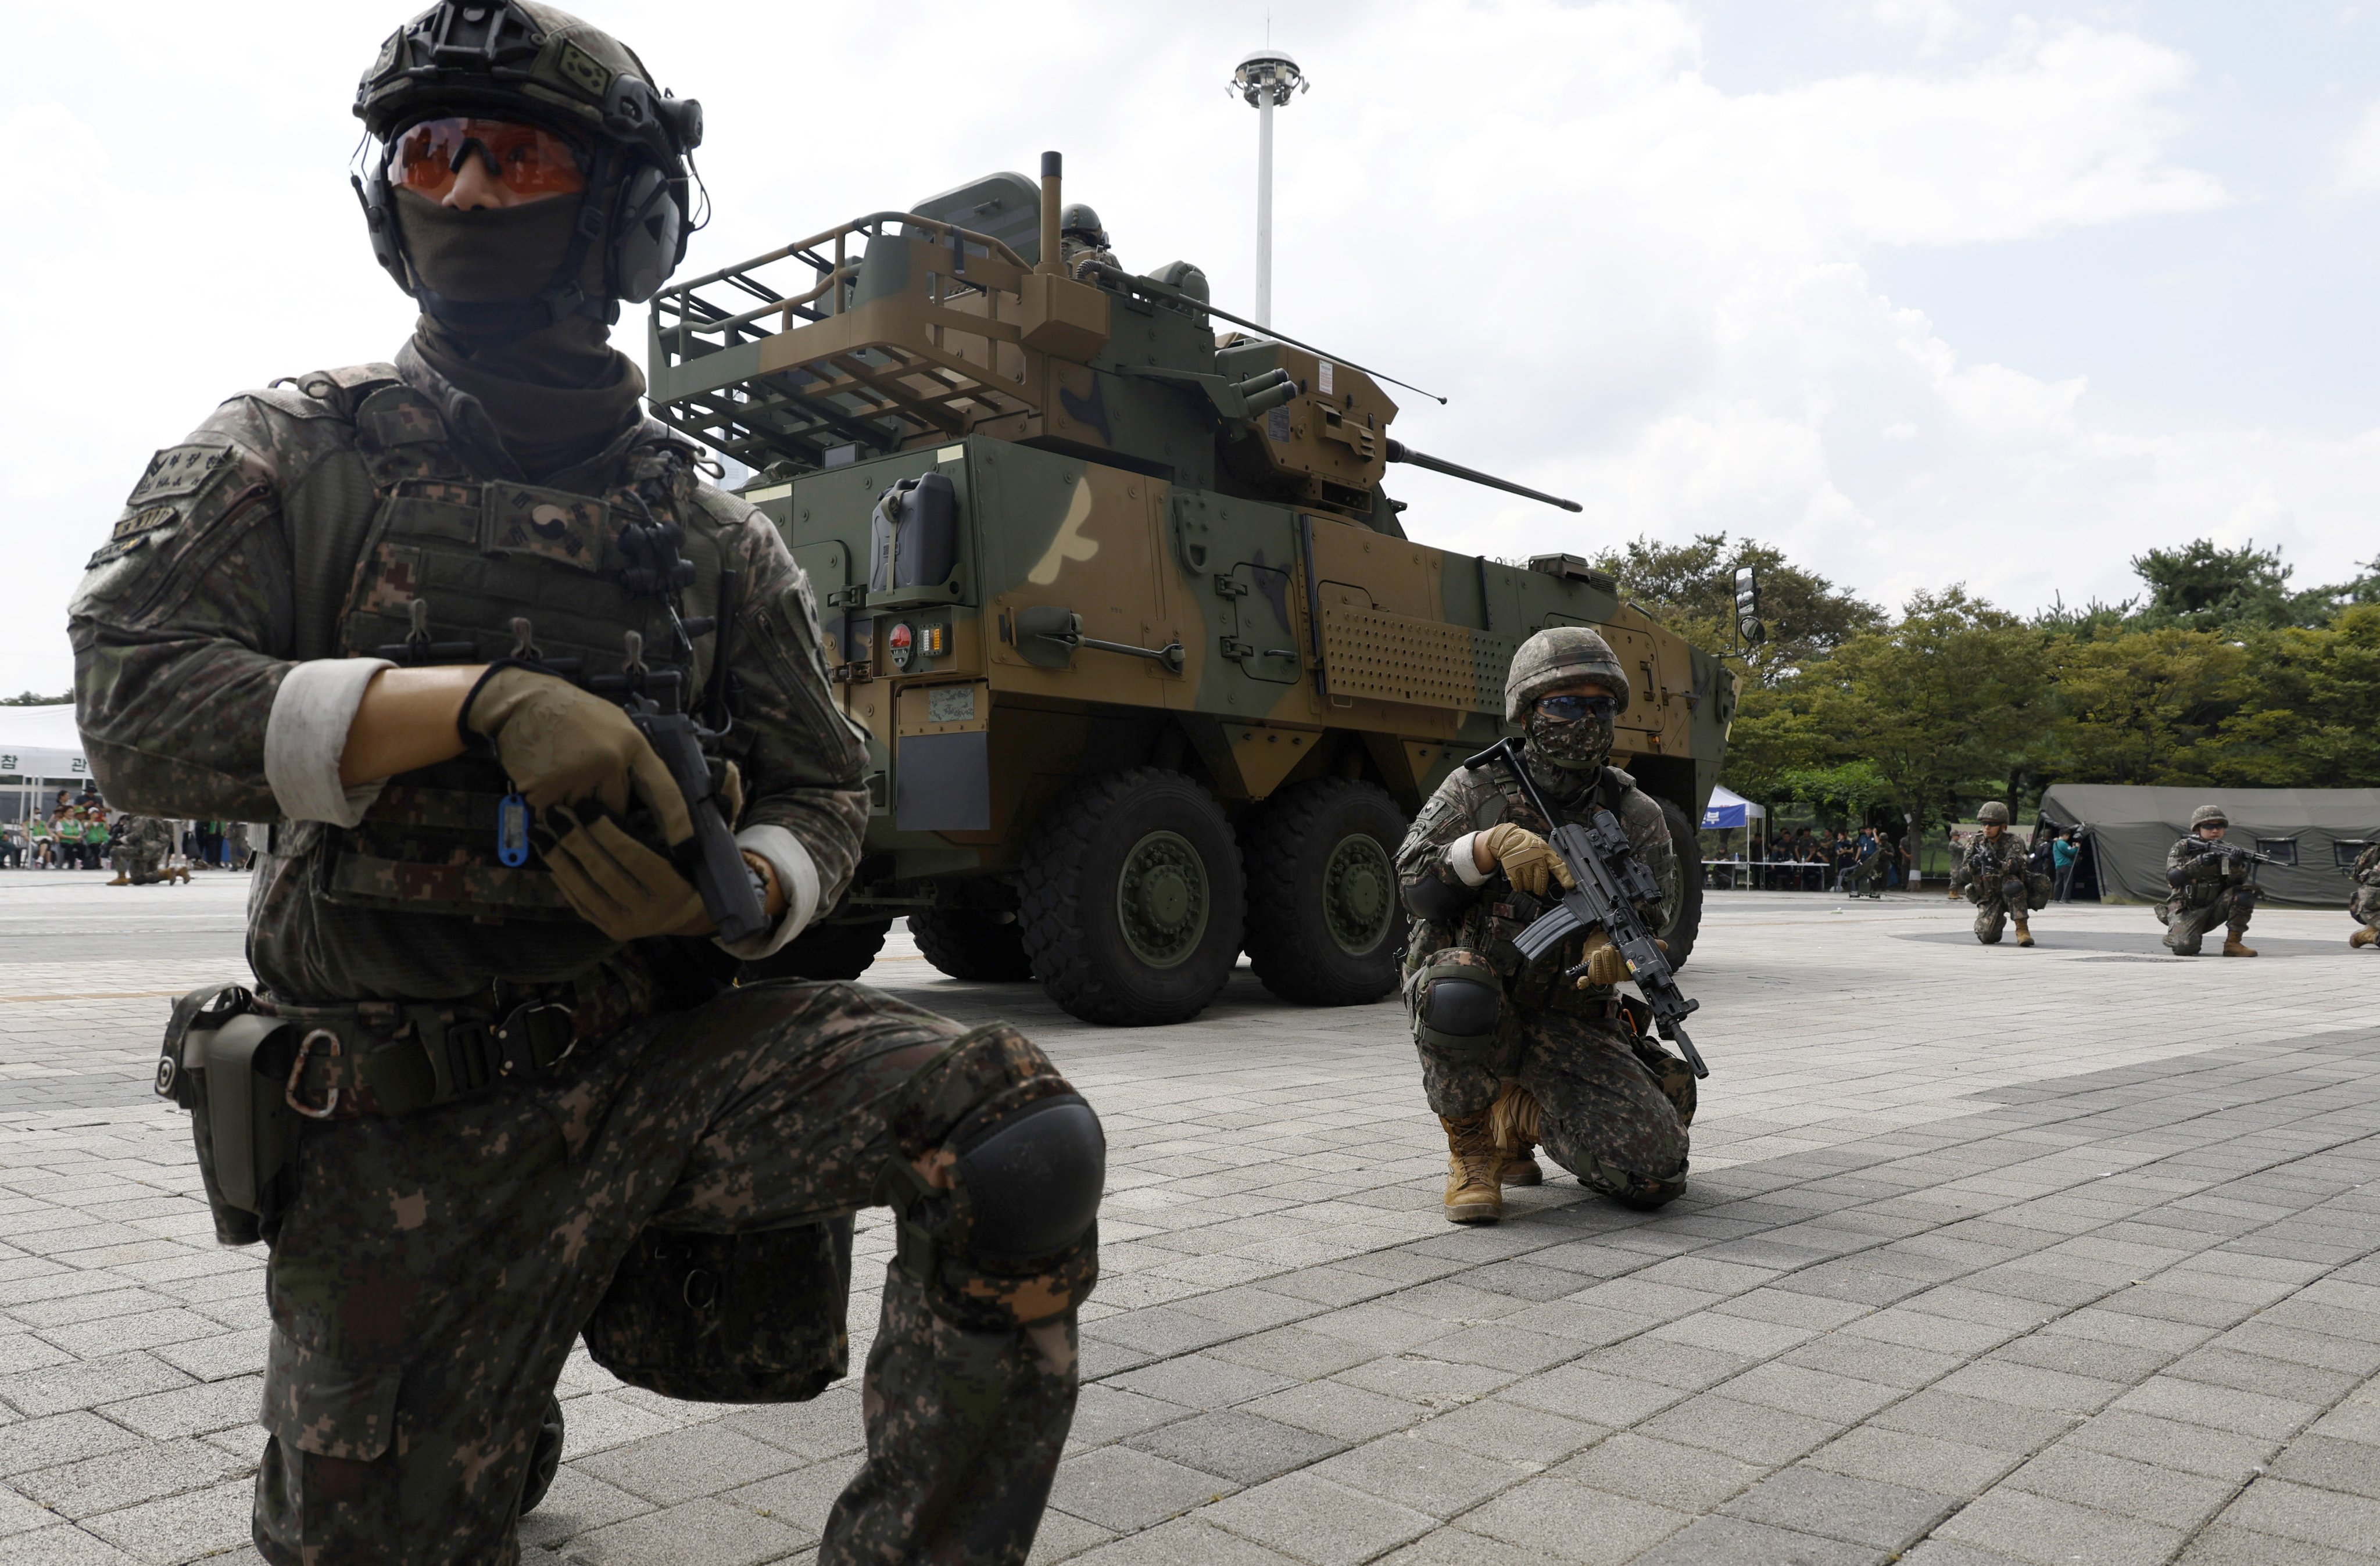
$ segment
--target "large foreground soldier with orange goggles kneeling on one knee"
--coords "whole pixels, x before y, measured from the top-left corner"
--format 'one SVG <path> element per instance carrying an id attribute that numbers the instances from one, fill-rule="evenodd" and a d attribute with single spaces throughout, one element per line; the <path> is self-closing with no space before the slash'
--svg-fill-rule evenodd
<path id="1" fill-rule="evenodd" d="M 109 795 L 278 819 L 248 952 L 252 1004 L 305 1031 L 293 1150 L 240 1211 L 200 1147 L 219 1235 L 271 1245 L 255 1545 L 519 1559 L 540 1416 L 640 1235 L 890 1202 L 866 1461 L 819 1559 L 1021 1561 L 1073 1409 L 1104 1142 L 1009 1026 L 721 981 L 835 904 L 866 793 L 809 583 L 640 416 L 607 343 L 683 255 L 700 107 L 514 0 L 393 33 L 357 114 L 416 336 L 159 452 L 69 609 Z M 733 716 L 724 814 L 766 931 L 707 940 L 671 852 L 685 795 L 540 659 L 676 664 L 714 728 Z M 526 862 L 497 845 L 507 795 L 536 812 Z"/>

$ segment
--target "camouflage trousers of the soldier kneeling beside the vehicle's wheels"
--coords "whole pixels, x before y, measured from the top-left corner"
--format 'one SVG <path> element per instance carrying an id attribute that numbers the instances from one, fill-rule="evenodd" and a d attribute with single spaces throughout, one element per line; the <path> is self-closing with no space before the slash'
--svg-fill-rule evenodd
<path id="1" fill-rule="evenodd" d="M 1537 1140 L 1587 1190 L 1659 1207 L 1685 1190 L 1695 1073 L 1626 1019 L 1518 1011 L 1502 1061 L 1421 1045 L 1421 1088 L 1449 1121 L 1488 1111 L 1507 1083 L 1537 1100 Z M 1656 1057 L 1656 1059 L 1647 1059 Z M 1659 1061 L 1671 1061 L 1661 1066 Z"/>

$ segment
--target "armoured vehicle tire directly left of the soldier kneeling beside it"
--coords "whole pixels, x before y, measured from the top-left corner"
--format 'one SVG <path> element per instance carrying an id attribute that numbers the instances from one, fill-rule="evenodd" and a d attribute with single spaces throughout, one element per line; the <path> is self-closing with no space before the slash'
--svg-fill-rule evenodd
<path id="1" fill-rule="evenodd" d="M 1352 778 L 1285 788 L 1250 814 L 1240 826 L 1247 961 L 1266 990 L 1359 1007 L 1397 988 L 1407 826 L 1388 790 Z"/>

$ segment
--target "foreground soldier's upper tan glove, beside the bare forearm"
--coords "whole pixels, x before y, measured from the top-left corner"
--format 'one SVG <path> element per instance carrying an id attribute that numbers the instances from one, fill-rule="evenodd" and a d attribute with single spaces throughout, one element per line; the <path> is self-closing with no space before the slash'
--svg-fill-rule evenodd
<path id="1" fill-rule="evenodd" d="M 495 743 L 495 759 L 540 816 L 585 800 L 626 816 L 633 790 L 652 807 L 666 842 L 695 835 L 669 764 L 600 695 L 536 669 L 497 666 L 471 690 L 457 724 Z"/>

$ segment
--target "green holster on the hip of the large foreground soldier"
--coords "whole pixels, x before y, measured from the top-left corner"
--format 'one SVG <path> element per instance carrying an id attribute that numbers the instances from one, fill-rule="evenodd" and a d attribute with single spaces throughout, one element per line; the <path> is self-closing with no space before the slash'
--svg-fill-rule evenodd
<path id="1" fill-rule="evenodd" d="M 240 985 L 207 985 L 174 1002 L 155 1088 L 190 1111 L 217 1245 L 255 1245 L 288 1202 L 295 1114 L 286 1095 L 295 1059 L 298 1028 L 259 1014 Z"/>

